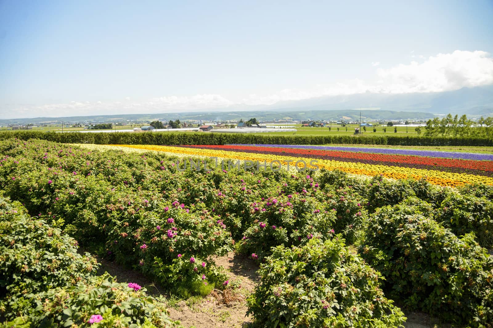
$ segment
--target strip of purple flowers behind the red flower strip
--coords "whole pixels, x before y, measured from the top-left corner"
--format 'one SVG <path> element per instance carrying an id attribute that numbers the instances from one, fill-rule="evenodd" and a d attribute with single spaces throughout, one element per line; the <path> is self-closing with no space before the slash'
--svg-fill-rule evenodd
<path id="1" fill-rule="evenodd" d="M 232 146 L 263 146 L 279 148 L 301 148 L 301 149 L 320 149 L 320 150 L 341 150 L 352 152 L 370 152 L 377 154 L 397 154 L 414 155 L 426 157 L 442 157 L 455 159 L 474 159 L 478 161 L 493 161 L 493 154 L 479 154 L 472 152 L 454 151 L 433 151 L 433 150 L 414 150 L 414 149 L 391 149 L 391 148 L 364 148 L 364 147 L 342 147 L 342 146 L 314 146 L 314 145 L 264 145 L 264 144 L 231 144 Z"/>

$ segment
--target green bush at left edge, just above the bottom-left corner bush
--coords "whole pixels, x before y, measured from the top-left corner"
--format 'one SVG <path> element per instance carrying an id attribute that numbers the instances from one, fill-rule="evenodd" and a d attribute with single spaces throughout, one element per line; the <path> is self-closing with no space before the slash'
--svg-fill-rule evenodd
<path id="1" fill-rule="evenodd" d="M 78 254 L 76 241 L 60 228 L 0 198 L 0 313 L 11 312 L 19 298 L 83 281 L 97 268 L 95 258 Z"/>

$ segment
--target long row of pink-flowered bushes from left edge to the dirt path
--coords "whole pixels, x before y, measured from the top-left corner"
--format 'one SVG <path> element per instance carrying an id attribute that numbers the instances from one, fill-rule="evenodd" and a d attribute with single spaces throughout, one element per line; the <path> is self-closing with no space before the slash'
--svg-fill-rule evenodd
<path id="1" fill-rule="evenodd" d="M 224 281 L 211 255 L 232 250 L 233 241 L 205 203 L 215 194 L 207 176 L 177 172 L 173 159 L 152 154 L 103 154 L 34 140 L 6 144 L 0 166 L 5 193 L 43 218 L 63 218 L 60 226 L 82 245 L 173 290 L 204 294 Z M 188 270 L 178 254 L 207 265 Z"/>

